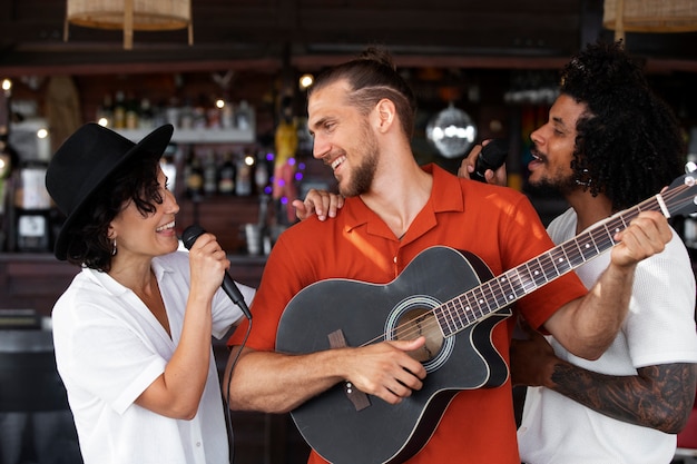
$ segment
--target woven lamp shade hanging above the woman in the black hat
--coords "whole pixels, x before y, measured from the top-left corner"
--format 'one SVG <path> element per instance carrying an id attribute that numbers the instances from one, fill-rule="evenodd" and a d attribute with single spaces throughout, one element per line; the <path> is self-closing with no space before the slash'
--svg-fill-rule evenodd
<path id="1" fill-rule="evenodd" d="M 122 29 L 124 48 L 132 48 L 134 31 L 163 31 L 188 28 L 194 42 L 192 0 L 68 0 L 65 39 L 68 24 L 97 29 Z"/>

